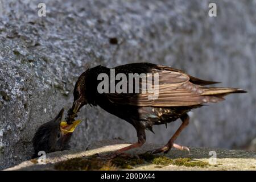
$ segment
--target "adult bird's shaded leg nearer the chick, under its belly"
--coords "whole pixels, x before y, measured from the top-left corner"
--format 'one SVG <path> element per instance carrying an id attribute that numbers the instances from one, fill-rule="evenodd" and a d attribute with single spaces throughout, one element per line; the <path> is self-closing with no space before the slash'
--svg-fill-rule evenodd
<path id="1" fill-rule="evenodd" d="M 137 129 L 137 136 L 138 136 L 138 142 L 133 143 L 130 146 L 123 147 L 123 148 L 113 152 L 112 154 L 108 155 L 107 157 L 108 158 L 114 158 L 117 155 L 134 156 L 134 155 L 125 154 L 123 152 L 131 150 L 133 148 L 141 147 L 146 142 L 146 133 L 145 133 L 144 129 Z"/>

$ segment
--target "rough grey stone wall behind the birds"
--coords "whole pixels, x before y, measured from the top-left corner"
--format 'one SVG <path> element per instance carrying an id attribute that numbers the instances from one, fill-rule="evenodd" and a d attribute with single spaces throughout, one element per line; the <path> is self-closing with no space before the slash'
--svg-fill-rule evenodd
<path id="1" fill-rule="evenodd" d="M 46 17 L 38 3 L 46 3 Z M 177 143 L 239 147 L 255 138 L 255 1 L 0 1 L 0 169 L 32 154 L 35 130 L 72 103 L 72 89 L 86 69 L 148 61 L 222 81 L 249 93 L 191 114 Z M 116 44 L 117 43 L 117 44 Z M 90 142 L 136 140 L 125 121 L 84 107 L 72 139 L 75 150 Z M 180 122 L 147 133 L 167 141 Z"/>

